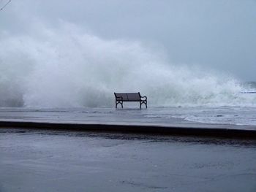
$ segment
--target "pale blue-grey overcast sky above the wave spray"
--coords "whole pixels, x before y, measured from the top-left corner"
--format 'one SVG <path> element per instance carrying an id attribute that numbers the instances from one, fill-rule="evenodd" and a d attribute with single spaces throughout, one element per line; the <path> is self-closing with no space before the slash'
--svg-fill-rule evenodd
<path id="1" fill-rule="evenodd" d="M 0 30 L 26 34 L 35 19 L 52 27 L 75 23 L 103 39 L 138 40 L 165 50 L 174 64 L 256 80 L 255 0 L 12 0 L 0 12 Z"/>

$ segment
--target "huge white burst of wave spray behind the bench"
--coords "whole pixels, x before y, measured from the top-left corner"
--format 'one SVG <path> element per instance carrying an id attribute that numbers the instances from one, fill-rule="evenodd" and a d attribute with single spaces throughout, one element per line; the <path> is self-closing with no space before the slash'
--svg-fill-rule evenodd
<path id="1" fill-rule="evenodd" d="M 140 42 L 69 23 L 36 28 L 0 31 L 0 107 L 112 107 L 113 92 L 123 91 L 140 91 L 154 106 L 256 106 L 237 80 L 176 66 Z"/>

